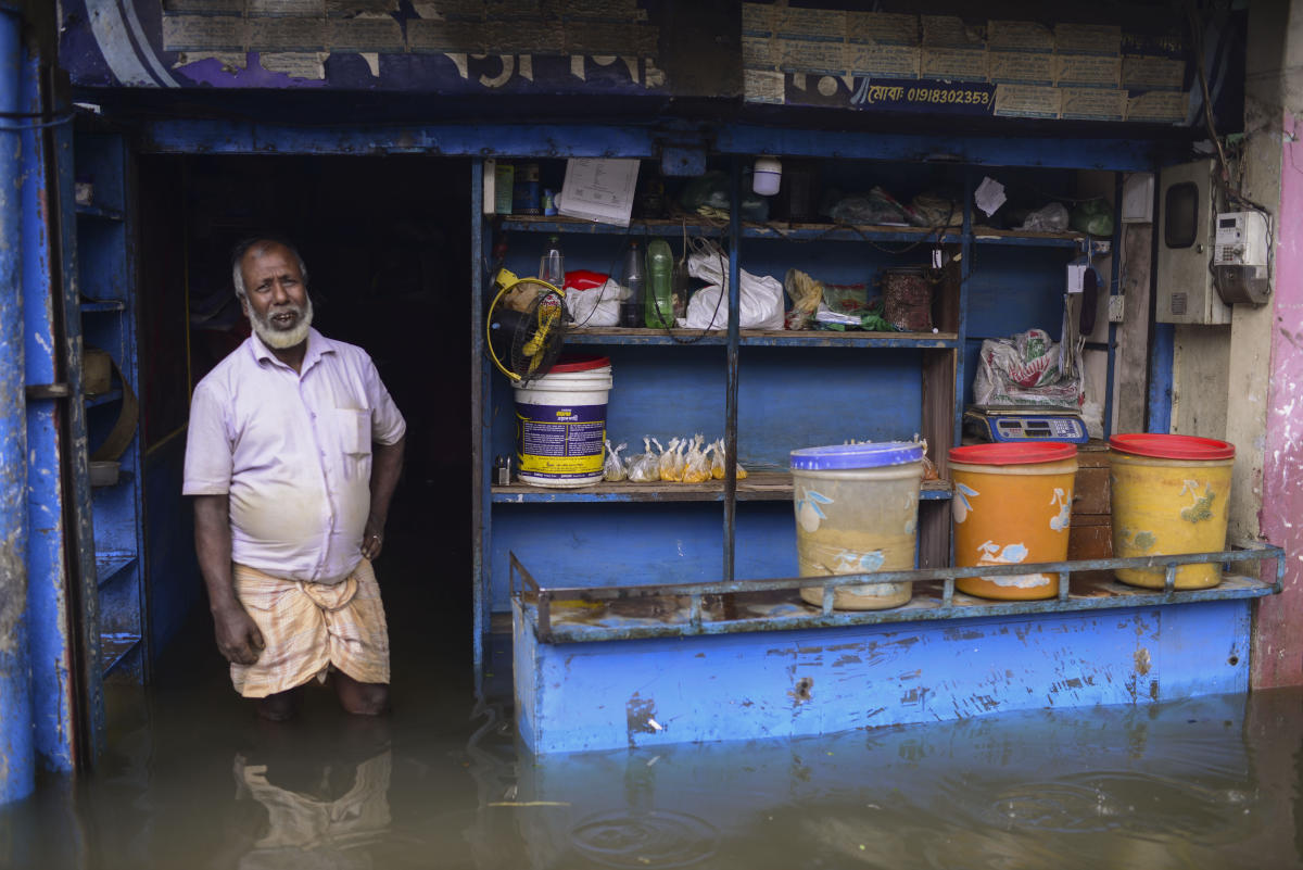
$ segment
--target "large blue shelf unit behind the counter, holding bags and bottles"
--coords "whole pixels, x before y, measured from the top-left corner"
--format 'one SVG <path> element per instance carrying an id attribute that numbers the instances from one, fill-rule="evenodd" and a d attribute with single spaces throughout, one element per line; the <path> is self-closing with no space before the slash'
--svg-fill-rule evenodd
<path id="1" fill-rule="evenodd" d="M 734 161 L 732 171 L 740 173 L 741 163 Z M 722 168 L 728 165 L 727 158 L 721 160 Z M 694 432 L 723 438 L 735 426 L 737 456 L 749 477 L 732 494 L 723 482 L 602 483 L 568 491 L 491 483 L 487 469 L 494 457 L 513 452 L 515 409 L 507 379 L 481 356 L 485 361 L 473 384 L 481 397 L 476 439 L 482 475 L 476 494 L 481 520 L 474 567 L 477 637 L 504 628 L 511 608 L 511 554 L 525 564 L 564 570 L 576 586 L 592 587 L 795 576 L 787 461 L 796 447 L 926 438 L 941 479 L 923 488 L 919 565 L 950 564 L 946 453 L 959 443 L 980 337 L 988 330 L 1007 336 L 1036 326 L 1057 339 L 1065 267 L 1091 249 L 1089 240 L 1074 232 L 985 227 L 972 208 L 956 208 L 952 225 L 939 229 L 784 221 L 728 225 L 693 218 L 635 219 L 625 228 L 566 218 L 483 215 L 481 172 L 477 163 L 472 180 L 473 255 L 481 264 L 474 288 L 476 353 L 482 353 L 482 316 L 491 298 L 490 253 L 500 255 L 504 246 L 507 268 L 534 275 L 551 234 L 559 237 L 568 270 L 616 276 L 631 240 L 645 250 L 649 238 L 665 238 L 678 258 L 684 233 L 715 240 L 731 268 L 778 280 L 797 268 L 829 284 L 865 284 L 870 296 L 878 293 L 877 283 L 887 268 L 929 264 L 934 255 L 946 267 L 933 289 L 934 331 L 926 333 L 739 330 L 730 337 L 727 330 L 619 327 L 567 332 L 569 349 L 611 359 L 607 436 L 612 444 L 628 444 L 625 456 L 642 451 L 644 435 L 665 444 L 671 436 Z M 943 188 L 956 202 L 972 202 L 985 172 L 992 171 L 838 159 L 829 160 L 822 175 L 825 185 L 846 190 L 873 184 L 906 194 Z M 1010 181 L 1027 180 L 1028 173 L 1033 175 L 1031 186 L 1076 195 L 1072 169 L 999 172 Z M 477 655 L 481 651 L 477 641 Z"/>

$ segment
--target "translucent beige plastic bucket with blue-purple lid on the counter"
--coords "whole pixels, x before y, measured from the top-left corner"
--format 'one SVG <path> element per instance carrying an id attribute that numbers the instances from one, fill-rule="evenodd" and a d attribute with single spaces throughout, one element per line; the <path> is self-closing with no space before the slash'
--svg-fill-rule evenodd
<path id="1" fill-rule="evenodd" d="M 915 567 L 923 445 L 877 442 L 792 451 L 792 507 L 801 577 L 909 570 Z M 913 583 L 863 583 L 833 590 L 837 610 L 899 607 Z M 821 607 L 823 589 L 801 589 Z"/>

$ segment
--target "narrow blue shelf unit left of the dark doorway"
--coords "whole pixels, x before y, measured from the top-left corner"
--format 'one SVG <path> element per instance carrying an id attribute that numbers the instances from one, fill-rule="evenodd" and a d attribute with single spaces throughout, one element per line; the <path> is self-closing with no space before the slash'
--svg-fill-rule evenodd
<path id="1" fill-rule="evenodd" d="M 124 412 L 130 417 L 139 384 L 137 363 L 137 294 L 129 154 L 124 138 L 111 130 L 78 129 L 73 137 L 73 165 L 91 199 L 77 204 L 76 270 L 85 348 L 98 348 L 113 361 L 107 392 L 82 396 L 89 452 L 104 443 Z M 78 185 L 78 186 L 79 186 Z M 143 522 L 142 457 L 138 421 L 130 443 L 116 461 L 116 483 L 91 488 L 95 548 L 94 636 L 99 639 L 102 680 L 143 682 L 149 654 Z M 87 608 L 90 612 L 90 608 Z M 100 723 L 96 723 L 100 725 Z"/>

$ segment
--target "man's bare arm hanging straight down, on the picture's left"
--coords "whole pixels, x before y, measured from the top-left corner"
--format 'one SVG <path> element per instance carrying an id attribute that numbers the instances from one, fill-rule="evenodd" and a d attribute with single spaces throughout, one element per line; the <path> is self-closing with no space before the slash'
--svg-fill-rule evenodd
<path id="1" fill-rule="evenodd" d="M 236 598 L 231 577 L 231 496 L 194 496 L 194 551 L 208 587 L 218 649 L 228 662 L 253 664 L 262 651 L 262 633 Z"/>

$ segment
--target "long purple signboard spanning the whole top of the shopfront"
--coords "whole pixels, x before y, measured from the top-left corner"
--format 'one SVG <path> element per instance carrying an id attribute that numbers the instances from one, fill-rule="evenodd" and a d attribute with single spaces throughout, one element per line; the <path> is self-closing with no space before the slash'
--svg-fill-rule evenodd
<path id="1" fill-rule="evenodd" d="M 917 4 L 782 0 L 64 0 L 82 87 L 666 95 L 890 115 L 1196 126 L 1184 23 L 1104 4 L 1089 23 Z M 885 9 L 885 10 L 880 10 Z M 891 9 L 900 9 L 893 12 Z M 1242 116 L 1242 13 L 1201 22 L 1218 129 Z"/>

